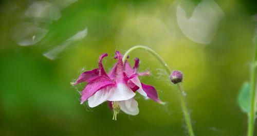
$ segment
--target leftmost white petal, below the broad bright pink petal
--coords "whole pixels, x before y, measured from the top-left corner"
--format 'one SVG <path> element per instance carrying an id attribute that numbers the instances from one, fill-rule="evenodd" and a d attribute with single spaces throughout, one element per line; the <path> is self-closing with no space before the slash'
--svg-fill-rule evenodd
<path id="1" fill-rule="evenodd" d="M 101 103 L 105 102 L 109 96 L 109 92 L 110 92 L 109 88 L 98 90 L 96 94 L 88 98 L 88 106 L 96 107 Z"/>

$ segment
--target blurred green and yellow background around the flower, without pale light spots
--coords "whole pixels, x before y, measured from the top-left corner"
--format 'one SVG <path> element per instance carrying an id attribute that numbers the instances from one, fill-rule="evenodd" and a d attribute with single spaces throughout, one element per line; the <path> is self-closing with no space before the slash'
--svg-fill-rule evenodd
<path id="1" fill-rule="evenodd" d="M 137 44 L 154 49 L 184 74 L 183 88 L 196 135 L 246 135 L 247 116 L 237 106 L 238 89 L 249 79 L 252 37 L 257 12 L 254 1 L 215 1 L 225 19 L 213 41 L 198 44 L 184 36 L 172 20 L 173 1 L 77 1 L 61 10 L 62 17 L 46 25 L 49 33 L 37 44 L 19 46 L 10 30 L 24 18 L 20 14 L 33 1 L 0 1 L 0 135 L 186 135 L 178 95 L 169 75 L 150 54 L 130 54 L 141 60 L 140 71 L 150 70 L 141 81 L 154 85 L 160 105 L 139 94 L 139 115 L 120 113 L 112 120 L 107 103 L 80 105 L 83 85 L 70 82 L 82 67 L 97 67 L 102 53 L 105 70 L 111 69 L 116 50 L 124 53 Z M 50 1 L 49 1 L 50 2 Z M 194 1 L 195 5 L 199 1 Z M 167 31 L 151 22 L 136 31 L 137 16 L 158 18 Z M 85 39 L 56 60 L 42 53 L 87 27 Z M 176 28 L 176 29 L 172 29 Z M 255 127 L 255 134 L 257 127 Z"/>

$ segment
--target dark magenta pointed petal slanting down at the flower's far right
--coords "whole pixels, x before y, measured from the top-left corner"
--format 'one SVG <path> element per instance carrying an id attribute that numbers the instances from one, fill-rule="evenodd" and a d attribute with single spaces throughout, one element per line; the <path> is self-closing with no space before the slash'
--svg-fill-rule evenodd
<path id="1" fill-rule="evenodd" d="M 144 92 L 147 94 L 147 96 L 149 98 L 153 99 L 154 101 L 156 101 L 158 103 L 161 103 L 161 101 L 158 98 L 157 91 L 154 88 L 154 86 L 146 85 L 146 84 L 143 84 L 143 83 L 141 83 L 141 85 L 142 85 L 142 89 L 144 90 Z"/>

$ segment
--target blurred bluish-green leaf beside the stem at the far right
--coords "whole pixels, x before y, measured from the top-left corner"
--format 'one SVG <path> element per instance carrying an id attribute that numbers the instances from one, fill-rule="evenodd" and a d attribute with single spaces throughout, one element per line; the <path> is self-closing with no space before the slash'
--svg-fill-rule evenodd
<path id="1" fill-rule="evenodd" d="M 239 107 L 246 114 L 250 112 L 250 89 L 250 83 L 244 82 L 244 84 L 240 88 L 240 92 L 237 98 Z"/>

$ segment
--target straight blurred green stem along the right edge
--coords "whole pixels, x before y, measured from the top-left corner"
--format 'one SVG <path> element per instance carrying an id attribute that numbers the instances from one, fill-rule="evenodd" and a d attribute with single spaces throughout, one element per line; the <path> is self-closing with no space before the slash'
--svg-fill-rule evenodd
<path id="1" fill-rule="evenodd" d="M 254 131 L 254 123 L 255 123 L 255 112 L 256 112 L 256 99 L 255 99 L 255 62 L 256 62 L 256 46 L 257 44 L 254 43 L 254 57 L 252 60 L 252 67 L 251 67 L 251 107 L 250 113 L 248 116 L 248 136 L 253 135 Z"/>

